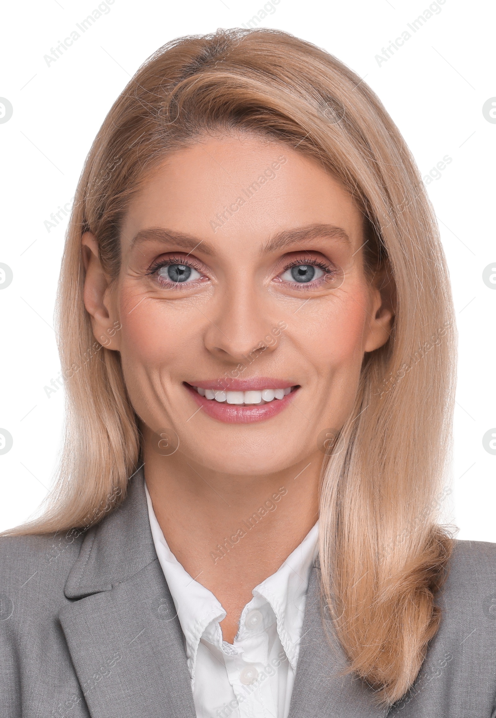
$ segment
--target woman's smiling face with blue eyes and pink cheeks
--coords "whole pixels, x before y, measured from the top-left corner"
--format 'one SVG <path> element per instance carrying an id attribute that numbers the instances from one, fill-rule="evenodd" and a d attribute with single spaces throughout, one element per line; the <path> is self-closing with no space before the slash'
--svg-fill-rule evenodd
<path id="1" fill-rule="evenodd" d="M 388 339 L 364 242 L 350 195 L 284 144 L 236 134 L 169 155 L 128 207 L 106 311 L 88 307 L 96 336 L 122 325 L 111 348 L 146 434 L 237 475 L 322 460 Z"/>

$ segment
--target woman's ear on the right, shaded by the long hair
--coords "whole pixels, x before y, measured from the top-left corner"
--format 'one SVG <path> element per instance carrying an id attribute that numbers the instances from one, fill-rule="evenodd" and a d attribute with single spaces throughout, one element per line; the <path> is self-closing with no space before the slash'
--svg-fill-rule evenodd
<path id="1" fill-rule="evenodd" d="M 388 264 L 375 271 L 370 283 L 371 302 L 365 352 L 385 345 L 393 328 L 396 307 L 396 286 Z"/>

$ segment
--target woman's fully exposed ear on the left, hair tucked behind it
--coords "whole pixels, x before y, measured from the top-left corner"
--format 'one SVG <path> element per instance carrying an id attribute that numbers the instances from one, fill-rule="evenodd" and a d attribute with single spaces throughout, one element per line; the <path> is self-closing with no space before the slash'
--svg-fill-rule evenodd
<path id="1" fill-rule="evenodd" d="M 93 335 L 107 349 L 118 351 L 121 322 L 118 321 L 111 278 L 103 271 L 95 236 L 85 232 L 81 245 L 85 267 L 84 302 L 91 317 Z"/>

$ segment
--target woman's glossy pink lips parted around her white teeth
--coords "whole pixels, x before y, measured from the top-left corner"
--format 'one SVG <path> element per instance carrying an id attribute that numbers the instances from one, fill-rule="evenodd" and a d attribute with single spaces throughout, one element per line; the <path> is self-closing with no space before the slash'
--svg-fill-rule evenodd
<path id="1" fill-rule="evenodd" d="M 266 382 L 268 380 L 265 379 L 263 381 Z M 233 383 L 229 386 L 229 390 L 256 391 L 257 389 L 268 388 L 268 386 L 273 386 L 273 388 L 277 389 L 284 389 L 288 386 L 296 386 L 295 384 L 290 384 L 287 381 L 286 383 L 280 382 L 279 385 L 276 384 L 275 380 L 270 380 L 271 383 L 269 384 L 263 383 L 263 381 L 261 382 L 259 379 L 246 380 L 243 383 L 243 386 L 240 386 L 239 381 L 238 383 L 234 383 L 233 381 Z M 256 386 L 255 383 L 257 383 Z M 258 406 L 258 404 L 240 406 L 239 404 L 226 404 L 225 401 L 215 401 L 215 399 L 207 399 L 205 396 L 200 396 L 196 389 L 186 382 L 184 382 L 183 386 L 187 389 L 187 391 L 189 391 L 196 404 L 202 407 L 205 414 L 210 416 L 212 419 L 217 419 L 217 421 L 223 421 L 225 424 L 253 424 L 256 421 L 266 421 L 267 419 L 272 419 L 273 416 L 281 414 L 281 411 L 284 411 L 284 409 L 291 404 L 295 394 L 299 391 L 298 387 L 294 389 L 294 391 L 291 391 L 291 393 L 286 394 L 284 398 L 274 399 L 273 401 L 269 401 L 268 404 L 262 404 L 261 406 Z M 200 388 L 206 389 L 213 387 L 216 388 L 217 391 L 221 388 L 215 382 L 207 381 L 195 383 L 195 386 L 200 386 Z"/>

